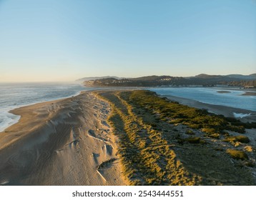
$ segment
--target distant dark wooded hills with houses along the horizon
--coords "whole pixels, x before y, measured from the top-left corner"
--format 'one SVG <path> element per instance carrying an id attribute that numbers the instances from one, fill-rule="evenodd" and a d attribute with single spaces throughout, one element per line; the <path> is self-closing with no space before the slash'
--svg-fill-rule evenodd
<path id="1" fill-rule="evenodd" d="M 107 76 L 104 79 L 84 81 L 85 86 L 256 86 L 256 74 L 208 75 L 199 74 L 191 77 L 179 76 L 142 76 L 138 78 L 117 79 Z"/>

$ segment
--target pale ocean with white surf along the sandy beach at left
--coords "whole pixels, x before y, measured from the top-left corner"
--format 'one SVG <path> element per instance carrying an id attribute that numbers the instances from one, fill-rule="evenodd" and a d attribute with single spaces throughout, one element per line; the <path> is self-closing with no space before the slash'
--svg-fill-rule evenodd
<path id="1" fill-rule="evenodd" d="M 20 116 L 10 114 L 10 110 L 43 101 L 75 96 L 84 90 L 89 90 L 89 88 L 77 83 L 1 83 L 0 132 L 19 121 Z"/>

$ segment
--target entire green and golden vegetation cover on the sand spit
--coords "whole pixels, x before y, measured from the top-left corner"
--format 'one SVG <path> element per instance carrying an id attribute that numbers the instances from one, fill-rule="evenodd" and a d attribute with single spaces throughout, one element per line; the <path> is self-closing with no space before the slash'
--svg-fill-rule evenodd
<path id="1" fill-rule="evenodd" d="M 244 133 L 248 124 L 160 98 L 152 91 L 97 94 L 112 105 L 108 122 L 118 136 L 118 154 L 129 184 L 215 185 L 222 184 L 215 181 L 220 174 L 229 180 L 225 183 L 252 183 L 248 171 L 230 163 L 229 155 L 237 161 L 248 158 L 245 152 L 226 153 L 227 147 L 211 144 L 223 143 L 230 136 L 227 131 Z M 235 137 L 237 142 L 246 142 L 245 138 Z M 217 172 L 209 175 L 206 168 Z"/>

